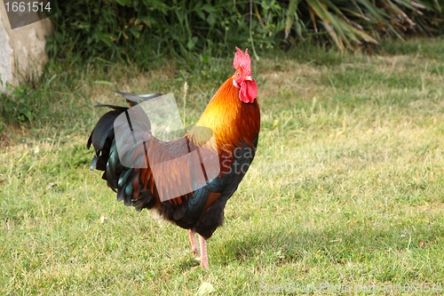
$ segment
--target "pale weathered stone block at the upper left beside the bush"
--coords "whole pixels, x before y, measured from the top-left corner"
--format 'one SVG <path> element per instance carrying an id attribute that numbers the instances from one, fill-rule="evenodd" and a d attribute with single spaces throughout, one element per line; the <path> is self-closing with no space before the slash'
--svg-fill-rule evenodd
<path id="1" fill-rule="evenodd" d="M 0 79 L 3 81 L 0 92 L 6 91 L 6 82 L 17 86 L 23 79 L 40 75 L 48 60 L 44 36 L 51 34 L 49 19 L 12 29 L 3 1 L 0 2 Z"/>

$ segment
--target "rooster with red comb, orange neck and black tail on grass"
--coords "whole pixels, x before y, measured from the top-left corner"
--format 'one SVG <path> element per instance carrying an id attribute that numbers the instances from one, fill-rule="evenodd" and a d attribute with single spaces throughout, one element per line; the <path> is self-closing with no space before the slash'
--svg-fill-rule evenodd
<path id="1" fill-rule="evenodd" d="M 102 179 L 107 180 L 107 186 L 115 190 L 117 200 L 135 206 L 138 211 L 147 208 L 156 217 L 187 229 L 192 252 L 200 256 L 200 266 L 207 270 L 209 261 L 206 241 L 223 224 L 226 202 L 238 188 L 258 146 L 258 87 L 251 77 L 248 49 L 245 53 L 237 47 L 236 50 L 234 75 L 219 87 L 199 121 L 183 138 L 171 141 L 156 139 L 147 115 L 139 113 L 136 116 L 139 119 L 132 121 L 132 128 L 139 131 L 138 140 L 124 143 L 130 147 L 124 157 L 129 157 L 135 165 L 123 164 L 124 157 L 119 157 L 115 136 L 115 130 L 118 129 L 116 118 L 123 114 L 128 116 L 130 108 L 98 105 L 96 107 L 113 110 L 99 119 L 87 143 L 88 149 L 91 145 L 95 149 L 91 170 L 95 168 L 104 171 Z M 161 95 L 139 97 L 119 93 L 126 98 L 131 108 L 137 108 L 143 100 Z M 189 158 L 184 160 L 182 156 L 188 155 L 190 151 L 199 152 L 198 159 L 202 165 L 191 165 Z M 157 157 L 150 158 L 147 156 L 149 153 Z M 214 153 L 216 157 L 211 159 Z M 214 164 L 214 158 L 217 158 L 217 170 L 206 172 L 203 163 Z M 159 164 L 165 159 L 174 160 L 173 165 L 164 167 L 161 177 L 157 173 L 155 178 L 153 162 Z M 194 171 L 198 169 L 204 175 L 199 186 L 178 184 L 178 174 L 185 174 L 189 177 L 187 180 L 195 180 L 190 176 L 196 175 Z M 186 186 L 189 188 L 185 193 L 177 190 L 178 187 Z M 165 198 L 165 193 L 170 197 Z M 200 250 L 196 243 L 196 233 Z"/>

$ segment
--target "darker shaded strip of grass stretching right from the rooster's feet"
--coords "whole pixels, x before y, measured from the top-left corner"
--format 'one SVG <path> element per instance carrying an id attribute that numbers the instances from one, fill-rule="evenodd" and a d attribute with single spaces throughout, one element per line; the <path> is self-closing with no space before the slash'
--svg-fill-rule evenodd
<path id="1" fill-rule="evenodd" d="M 211 244 L 213 260 L 222 265 L 238 260 L 255 266 L 277 267 L 359 263 L 371 267 L 379 262 L 385 268 L 381 268 L 377 280 L 384 282 L 399 274 L 403 260 L 432 260 L 428 257 L 431 249 L 442 255 L 444 228 L 430 223 L 409 221 L 379 227 L 347 224 L 327 225 L 316 230 L 297 229 L 295 225 L 294 228 L 265 227 L 248 231 L 219 245 Z"/>

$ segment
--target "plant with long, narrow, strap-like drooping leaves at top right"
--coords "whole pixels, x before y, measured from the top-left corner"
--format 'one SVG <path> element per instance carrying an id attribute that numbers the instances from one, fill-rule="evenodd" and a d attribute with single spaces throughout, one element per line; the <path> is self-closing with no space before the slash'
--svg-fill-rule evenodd
<path id="1" fill-rule="evenodd" d="M 377 40 L 385 35 L 402 39 L 402 35 L 411 32 L 437 33 L 444 21 L 437 17 L 440 3 L 441 0 L 290 0 L 285 38 L 291 28 L 302 39 L 303 32 L 308 36 L 327 34 L 343 52 L 363 43 L 378 44 Z"/>

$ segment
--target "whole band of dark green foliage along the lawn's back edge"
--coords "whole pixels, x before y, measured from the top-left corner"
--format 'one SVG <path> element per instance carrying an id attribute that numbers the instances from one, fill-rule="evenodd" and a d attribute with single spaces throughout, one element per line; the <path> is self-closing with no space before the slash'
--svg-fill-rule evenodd
<path id="1" fill-rule="evenodd" d="M 317 40 L 340 51 L 384 36 L 440 33 L 443 0 L 57 1 L 47 51 L 58 60 L 162 56 L 208 60 L 234 46 L 270 49 Z M 250 14 L 251 12 L 251 14 Z M 251 18 L 251 21 L 250 21 Z M 287 41 L 286 41 L 287 40 Z M 254 45 L 254 46 L 253 46 Z M 255 47 L 255 48 L 252 48 Z M 189 60 L 189 59 L 186 59 Z"/>

